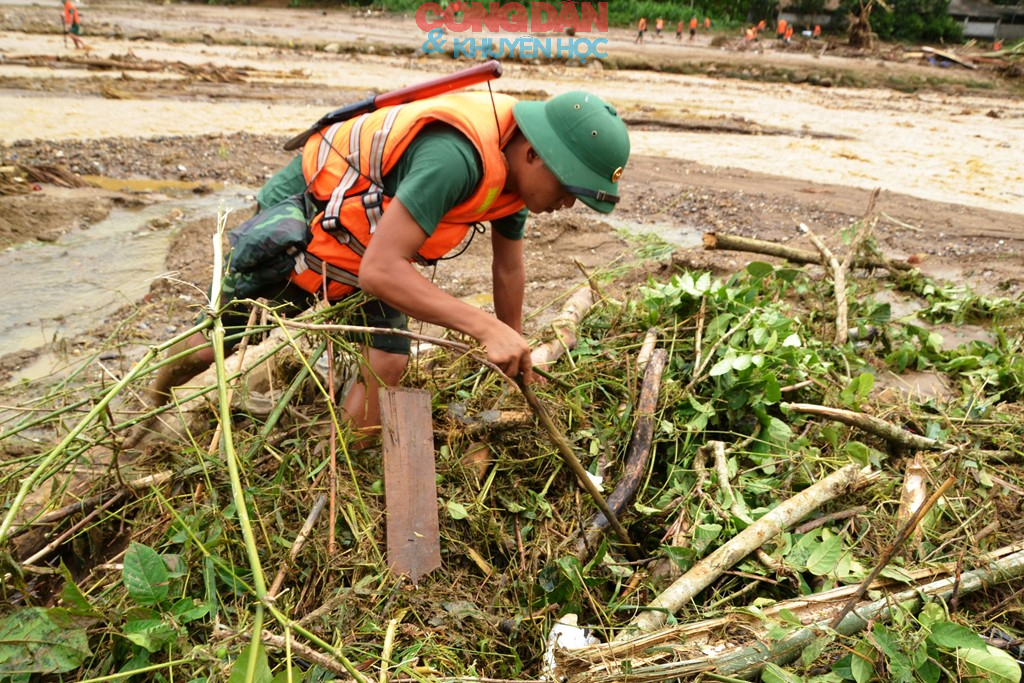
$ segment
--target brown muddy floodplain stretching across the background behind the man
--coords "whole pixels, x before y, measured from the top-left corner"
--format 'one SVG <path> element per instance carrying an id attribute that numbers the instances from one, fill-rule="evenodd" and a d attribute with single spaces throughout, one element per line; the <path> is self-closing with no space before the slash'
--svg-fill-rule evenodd
<path id="1" fill-rule="evenodd" d="M 401 16 L 124 2 L 93 2 L 82 14 L 87 53 L 62 45 L 56 9 L 0 2 L 0 166 L 56 167 L 85 185 L 8 169 L 0 248 L 39 248 L 115 207 L 156 203 L 165 218 L 150 227 L 173 230 L 165 270 L 175 274 L 91 331 L 50 342 L 73 357 L 110 344 L 116 330 L 117 353 L 130 360 L 188 325 L 210 279 L 214 219 L 184 216 L 181 197 L 253 194 L 289 160 L 284 140 L 321 114 L 464 66 L 418 53 L 422 33 Z M 631 125 L 615 213 L 575 208 L 528 227 L 530 330 L 581 280 L 577 261 L 598 270 L 635 256 L 623 228 L 678 243 L 648 271 L 674 261 L 726 272 L 755 257 L 701 251 L 702 232 L 811 248 L 796 229 L 803 222 L 842 251 L 840 230 L 873 187 L 886 255 L 988 293 L 1024 292 L 1024 96 L 1013 69 L 940 69 L 907 56 L 912 46 L 850 53 L 839 40 L 757 50 L 726 34 L 648 43 L 614 30 L 604 63 L 510 61 L 495 83 L 522 97 L 592 90 Z M 487 305 L 488 258 L 478 238 L 429 274 Z M 69 271 L 68 286 L 88 274 Z M 28 283 L 0 295 L 31 296 Z M 0 379 L 42 350 L 11 348 L 0 333 Z"/>

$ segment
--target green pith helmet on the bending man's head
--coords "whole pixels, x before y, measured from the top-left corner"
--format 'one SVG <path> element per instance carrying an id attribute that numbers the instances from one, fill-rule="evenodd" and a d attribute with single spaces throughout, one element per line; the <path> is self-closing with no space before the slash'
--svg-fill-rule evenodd
<path id="1" fill-rule="evenodd" d="M 630 158 L 630 135 L 614 108 L 574 90 L 546 102 L 517 102 L 512 110 L 544 165 L 565 189 L 596 211 L 618 203 L 618 178 Z"/>

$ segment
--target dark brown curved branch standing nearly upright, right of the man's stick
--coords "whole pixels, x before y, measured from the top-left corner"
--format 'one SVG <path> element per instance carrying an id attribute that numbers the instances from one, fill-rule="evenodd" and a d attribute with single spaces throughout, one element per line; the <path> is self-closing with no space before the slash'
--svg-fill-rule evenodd
<path id="1" fill-rule="evenodd" d="M 647 460 L 650 458 L 650 445 L 654 436 L 654 413 L 657 409 L 657 395 L 662 387 L 662 374 L 668 359 L 668 351 L 664 348 L 651 352 L 644 370 L 643 382 L 640 386 L 640 397 L 636 404 L 636 426 L 633 428 L 633 439 L 630 441 L 623 476 L 615 484 L 614 490 L 607 498 L 608 507 L 618 514 L 636 496 L 644 472 L 647 471 Z M 584 538 L 577 544 L 577 557 L 583 558 L 589 548 L 593 548 L 601 532 L 608 526 L 608 518 L 604 514 L 596 515 L 586 526 Z"/>

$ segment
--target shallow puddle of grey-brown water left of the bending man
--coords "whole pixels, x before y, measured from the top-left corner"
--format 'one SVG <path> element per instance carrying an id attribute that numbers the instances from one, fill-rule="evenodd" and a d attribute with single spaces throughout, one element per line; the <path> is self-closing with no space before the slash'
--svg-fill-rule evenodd
<path id="1" fill-rule="evenodd" d="M 138 301 L 164 274 L 174 227 L 147 223 L 177 209 L 183 220 L 215 216 L 220 207 L 248 211 L 252 193 L 234 187 L 182 197 L 142 209 L 115 209 L 86 230 L 52 244 L 0 253 L 0 354 L 73 338 L 120 306 Z"/>

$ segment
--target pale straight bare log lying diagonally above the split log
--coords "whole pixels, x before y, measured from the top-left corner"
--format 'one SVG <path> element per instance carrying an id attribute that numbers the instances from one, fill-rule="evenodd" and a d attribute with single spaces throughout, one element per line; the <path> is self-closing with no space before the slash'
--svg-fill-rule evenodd
<path id="1" fill-rule="evenodd" d="M 861 470 L 857 465 L 847 465 L 783 501 L 778 507 L 693 565 L 689 571 L 658 595 L 647 609 L 637 614 L 615 641 L 630 640 L 639 633 L 659 629 L 665 625 L 668 614 L 674 614 L 688 604 L 726 569 L 793 526 L 811 511 L 848 492 L 867 474 L 869 474 L 867 468 Z"/>

